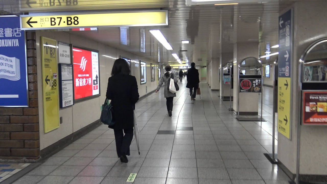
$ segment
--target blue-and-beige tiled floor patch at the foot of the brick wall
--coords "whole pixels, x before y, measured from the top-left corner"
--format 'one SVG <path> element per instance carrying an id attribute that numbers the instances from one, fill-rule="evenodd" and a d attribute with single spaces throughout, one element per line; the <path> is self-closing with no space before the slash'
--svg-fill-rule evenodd
<path id="1" fill-rule="evenodd" d="M 0 183 L 10 176 L 18 173 L 25 169 L 29 164 L 26 163 L 12 163 L 12 164 L 1 164 L 0 163 Z"/>

